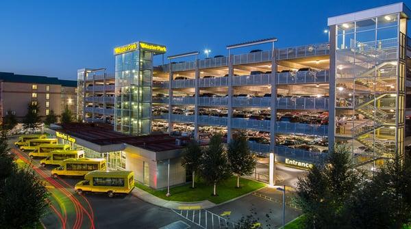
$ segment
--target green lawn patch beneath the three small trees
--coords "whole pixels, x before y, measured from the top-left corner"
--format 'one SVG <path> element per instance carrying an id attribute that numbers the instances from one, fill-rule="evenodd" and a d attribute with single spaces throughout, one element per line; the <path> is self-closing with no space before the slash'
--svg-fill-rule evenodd
<path id="1" fill-rule="evenodd" d="M 236 184 L 237 178 L 234 176 L 221 182 L 219 185 L 217 185 L 217 194 L 219 196 L 211 196 L 212 185 L 206 185 L 206 183 L 201 181 L 195 183 L 195 189 L 191 188 L 191 183 L 172 187 L 170 189 L 171 196 L 169 197 L 166 197 L 166 189 L 157 191 L 140 183 L 136 183 L 136 187 L 143 189 L 144 191 L 147 191 L 154 196 L 157 196 L 164 200 L 173 200 L 179 202 L 197 202 L 202 200 L 210 200 L 210 202 L 213 202 L 214 204 L 219 204 L 266 186 L 266 184 L 264 183 L 260 183 L 254 180 L 248 180 L 245 178 L 240 178 L 240 189 L 235 188 Z"/>

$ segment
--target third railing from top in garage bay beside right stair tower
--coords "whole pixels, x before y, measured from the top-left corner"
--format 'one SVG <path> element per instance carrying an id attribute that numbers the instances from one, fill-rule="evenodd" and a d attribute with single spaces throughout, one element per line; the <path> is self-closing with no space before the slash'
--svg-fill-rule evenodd
<path id="1" fill-rule="evenodd" d="M 328 109 L 329 98 L 277 98 L 279 109 Z"/>

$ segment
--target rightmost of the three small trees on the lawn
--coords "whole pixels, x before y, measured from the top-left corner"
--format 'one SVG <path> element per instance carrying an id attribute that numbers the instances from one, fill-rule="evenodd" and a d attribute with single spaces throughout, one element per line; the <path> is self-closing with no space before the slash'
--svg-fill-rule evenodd
<path id="1" fill-rule="evenodd" d="M 237 174 L 237 188 L 240 176 L 250 175 L 256 168 L 256 157 L 251 153 L 245 133 L 239 132 L 228 144 L 227 157 L 232 172 Z"/>

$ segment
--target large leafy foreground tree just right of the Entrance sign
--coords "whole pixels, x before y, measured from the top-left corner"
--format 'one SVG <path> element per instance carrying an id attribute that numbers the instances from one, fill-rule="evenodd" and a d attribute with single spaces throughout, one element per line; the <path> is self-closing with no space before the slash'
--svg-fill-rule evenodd
<path id="1" fill-rule="evenodd" d="M 314 165 L 299 178 L 296 202 L 301 207 L 306 228 L 344 228 L 345 203 L 358 189 L 360 174 L 353 170 L 349 150 L 336 146 L 322 165 Z"/>

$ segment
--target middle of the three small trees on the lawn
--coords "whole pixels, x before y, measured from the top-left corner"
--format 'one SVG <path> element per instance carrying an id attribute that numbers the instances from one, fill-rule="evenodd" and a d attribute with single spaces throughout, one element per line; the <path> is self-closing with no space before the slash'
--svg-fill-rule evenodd
<path id="1" fill-rule="evenodd" d="M 217 196 L 217 184 L 231 176 L 221 135 L 213 135 L 210 138 L 210 143 L 204 151 L 201 161 L 201 175 L 207 183 L 214 185 L 212 195 Z"/>

